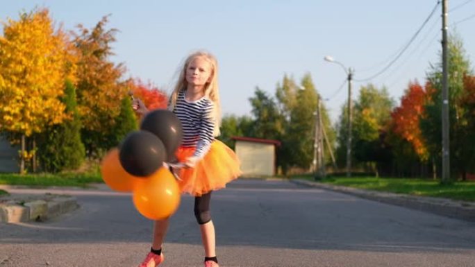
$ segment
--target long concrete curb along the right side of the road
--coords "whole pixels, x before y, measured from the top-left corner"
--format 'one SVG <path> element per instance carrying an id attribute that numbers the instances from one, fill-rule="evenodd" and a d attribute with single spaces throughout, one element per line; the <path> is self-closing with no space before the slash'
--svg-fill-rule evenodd
<path id="1" fill-rule="evenodd" d="M 291 180 L 295 184 L 317 187 L 339 193 L 346 193 L 359 198 L 376 200 L 381 203 L 408 207 L 423 212 L 430 212 L 449 218 L 458 218 L 464 221 L 475 222 L 475 203 L 468 201 L 451 200 L 447 198 L 431 198 L 424 196 L 411 196 L 398 193 L 386 193 L 356 189 L 352 187 L 342 187 L 321 182 L 310 182 L 307 180 Z"/>

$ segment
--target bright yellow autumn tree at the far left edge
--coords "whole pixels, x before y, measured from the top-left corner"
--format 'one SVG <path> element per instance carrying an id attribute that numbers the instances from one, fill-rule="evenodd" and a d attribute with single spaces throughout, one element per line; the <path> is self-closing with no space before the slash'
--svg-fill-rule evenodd
<path id="1" fill-rule="evenodd" d="M 55 31 L 47 9 L 23 12 L 8 19 L 0 36 L 0 131 L 10 141 L 42 132 L 67 115 L 63 96 L 65 78 L 73 78 L 74 53 L 67 35 Z M 21 137 L 21 138 L 19 138 Z M 20 171 L 24 171 L 24 157 Z"/>

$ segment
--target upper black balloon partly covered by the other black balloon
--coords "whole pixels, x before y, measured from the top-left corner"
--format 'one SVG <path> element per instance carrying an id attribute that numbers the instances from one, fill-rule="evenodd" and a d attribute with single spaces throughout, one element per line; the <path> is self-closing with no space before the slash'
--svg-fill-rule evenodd
<path id="1" fill-rule="evenodd" d="M 152 110 L 142 119 L 140 129 L 152 132 L 163 141 L 167 151 L 167 162 L 172 162 L 176 149 L 183 139 L 180 119 L 169 110 Z"/>

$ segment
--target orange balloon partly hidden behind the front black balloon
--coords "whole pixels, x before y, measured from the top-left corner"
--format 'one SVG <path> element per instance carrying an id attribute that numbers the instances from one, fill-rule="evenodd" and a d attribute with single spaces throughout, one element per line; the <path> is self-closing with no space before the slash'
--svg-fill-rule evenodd
<path id="1" fill-rule="evenodd" d="M 111 149 L 101 162 L 102 180 L 115 191 L 131 192 L 140 180 L 122 168 L 119 161 L 119 149 Z"/>

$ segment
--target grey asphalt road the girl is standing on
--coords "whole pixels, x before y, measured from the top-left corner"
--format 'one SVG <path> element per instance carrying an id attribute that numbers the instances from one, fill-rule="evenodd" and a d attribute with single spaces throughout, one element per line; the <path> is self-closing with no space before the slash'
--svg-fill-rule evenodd
<path id="1" fill-rule="evenodd" d="M 46 191 L 74 195 L 81 208 L 44 223 L 0 224 L 1 267 L 133 267 L 147 254 L 152 224 L 130 194 Z M 475 223 L 285 181 L 235 181 L 213 193 L 211 206 L 222 267 L 475 266 Z M 192 209 L 183 196 L 160 266 L 203 266 Z"/>

